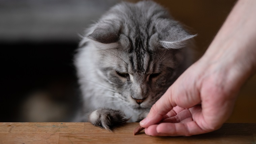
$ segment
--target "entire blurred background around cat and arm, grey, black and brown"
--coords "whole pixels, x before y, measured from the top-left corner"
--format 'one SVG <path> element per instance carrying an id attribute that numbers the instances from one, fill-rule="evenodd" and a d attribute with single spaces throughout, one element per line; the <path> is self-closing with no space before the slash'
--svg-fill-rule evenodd
<path id="1" fill-rule="evenodd" d="M 137 0 L 127 0 L 137 2 Z M 193 33 L 199 58 L 235 0 L 155 0 Z M 0 0 L 0 122 L 65 122 L 79 107 L 79 34 L 121 0 Z M 228 123 L 256 123 L 256 76 Z"/>

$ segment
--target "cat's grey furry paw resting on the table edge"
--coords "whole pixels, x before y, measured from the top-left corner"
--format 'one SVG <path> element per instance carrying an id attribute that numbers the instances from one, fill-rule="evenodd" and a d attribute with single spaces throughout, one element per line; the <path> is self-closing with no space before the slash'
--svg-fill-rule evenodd
<path id="1" fill-rule="evenodd" d="M 130 118 L 127 118 L 121 110 L 109 108 L 97 109 L 88 116 L 88 121 L 94 126 L 105 128 L 109 131 L 111 131 L 113 127 L 127 122 L 129 119 Z"/>

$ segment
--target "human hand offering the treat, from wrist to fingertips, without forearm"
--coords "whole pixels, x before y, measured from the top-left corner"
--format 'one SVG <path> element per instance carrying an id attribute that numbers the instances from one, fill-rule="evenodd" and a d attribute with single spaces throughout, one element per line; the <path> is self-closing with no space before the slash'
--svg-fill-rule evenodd
<path id="1" fill-rule="evenodd" d="M 145 133 L 190 136 L 219 129 L 231 115 L 240 88 L 232 67 L 220 65 L 199 60 L 188 68 L 140 122 Z"/>

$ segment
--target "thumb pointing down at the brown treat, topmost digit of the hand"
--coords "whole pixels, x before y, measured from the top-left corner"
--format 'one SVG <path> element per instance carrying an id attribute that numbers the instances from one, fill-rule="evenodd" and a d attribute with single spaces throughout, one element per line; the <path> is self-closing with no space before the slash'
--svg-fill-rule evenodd
<path id="1" fill-rule="evenodd" d="M 157 124 L 176 104 L 172 100 L 172 88 L 169 87 L 163 96 L 151 107 L 148 116 L 139 122 L 140 126 L 147 128 Z"/>

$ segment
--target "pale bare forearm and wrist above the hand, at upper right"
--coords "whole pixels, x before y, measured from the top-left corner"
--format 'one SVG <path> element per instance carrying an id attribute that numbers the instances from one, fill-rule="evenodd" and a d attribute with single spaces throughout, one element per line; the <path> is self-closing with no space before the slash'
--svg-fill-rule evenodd
<path id="1" fill-rule="evenodd" d="M 256 1 L 239 0 L 202 57 L 245 81 L 256 71 Z M 229 73 L 227 73 L 228 75 Z"/>

